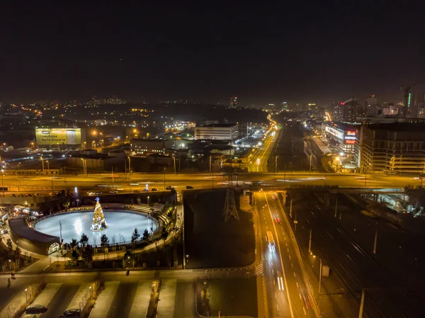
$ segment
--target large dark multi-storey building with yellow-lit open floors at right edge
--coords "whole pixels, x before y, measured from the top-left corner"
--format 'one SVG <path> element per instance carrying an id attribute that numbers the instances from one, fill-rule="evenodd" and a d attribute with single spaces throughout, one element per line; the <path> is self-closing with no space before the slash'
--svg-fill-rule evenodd
<path id="1" fill-rule="evenodd" d="M 373 123 L 361 127 L 361 171 L 421 174 L 425 164 L 425 124 Z"/>

